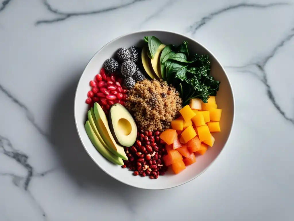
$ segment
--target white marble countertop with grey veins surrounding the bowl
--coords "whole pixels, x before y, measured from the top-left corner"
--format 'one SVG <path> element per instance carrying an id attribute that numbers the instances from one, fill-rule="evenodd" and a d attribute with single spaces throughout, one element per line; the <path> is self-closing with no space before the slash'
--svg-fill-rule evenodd
<path id="1" fill-rule="evenodd" d="M 0 0 L 0 220 L 294 220 L 293 12 L 293 0 Z M 103 173 L 73 117 L 88 60 L 143 29 L 204 44 L 236 102 L 216 162 L 161 191 Z"/>

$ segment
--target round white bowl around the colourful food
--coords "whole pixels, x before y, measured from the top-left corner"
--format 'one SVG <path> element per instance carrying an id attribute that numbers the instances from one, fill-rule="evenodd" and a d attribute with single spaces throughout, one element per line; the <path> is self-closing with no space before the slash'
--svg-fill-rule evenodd
<path id="1" fill-rule="evenodd" d="M 121 166 L 114 165 L 106 160 L 92 145 L 84 128 L 88 108 L 85 100 L 87 98 L 87 92 L 90 90 L 89 81 L 93 80 L 93 77 L 100 71 L 104 61 L 107 58 L 113 57 L 115 55 L 115 52 L 118 50 L 118 48 L 129 48 L 131 46 L 139 45 L 140 42 L 142 42 L 144 36 L 156 36 L 166 45 L 178 45 L 184 40 L 188 40 L 189 52 L 191 52 L 191 54 L 208 54 L 210 56 L 211 75 L 221 82 L 220 89 L 216 96 L 218 108 L 222 109 L 222 116 L 220 120 L 221 132 L 213 134 L 213 136 L 216 138 L 213 147 L 209 148 L 206 154 L 203 156 L 197 156 L 196 163 L 187 166 L 187 168 L 180 174 L 174 175 L 172 173 L 167 173 L 164 176 L 159 176 L 158 179 L 133 176 L 132 171 L 129 171 L 128 169 L 122 169 Z M 130 186 L 143 189 L 167 189 L 176 187 L 195 179 L 201 173 L 203 173 L 220 154 L 220 151 L 224 148 L 230 136 L 234 120 L 234 110 L 235 108 L 232 87 L 225 70 L 218 62 L 216 57 L 208 49 L 195 40 L 182 34 L 168 31 L 135 32 L 118 37 L 103 46 L 92 57 L 83 74 L 81 75 L 76 89 L 74 102 L 74 117 L 76 128 L 81 142 L 89 156 L 103 171 L 105 171 L 111 177 Z M 93 174 L 93 176 L 95 175 Z"/>

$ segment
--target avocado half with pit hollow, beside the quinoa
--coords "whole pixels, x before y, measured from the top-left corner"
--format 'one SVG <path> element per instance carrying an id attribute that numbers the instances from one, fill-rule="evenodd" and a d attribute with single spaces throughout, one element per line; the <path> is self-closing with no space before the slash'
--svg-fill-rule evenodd
<path id="1" fill-rule="evenodd" d="M 116 103 L 109 111 L 109 127 L 116 142 L 123 146 L 132 146 L 137 139 L 136 123 L 121 104 Z"/>

